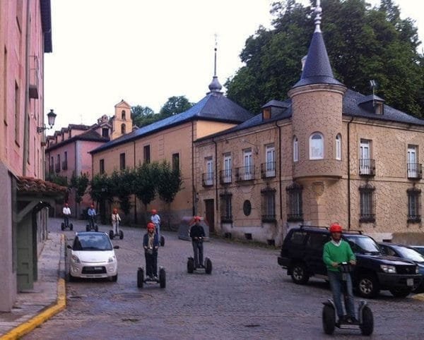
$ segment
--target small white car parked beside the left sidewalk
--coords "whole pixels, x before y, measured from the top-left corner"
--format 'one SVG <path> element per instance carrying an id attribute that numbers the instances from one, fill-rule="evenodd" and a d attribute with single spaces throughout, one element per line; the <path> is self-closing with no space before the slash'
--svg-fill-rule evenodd
<path id="1" fill-rule="evenodd" d="M 76 277 L 84 279 L 118 279 L 118 261 L 107 233 L 83 231 L 76 233 L 69 257 L 69 281 Z"/>

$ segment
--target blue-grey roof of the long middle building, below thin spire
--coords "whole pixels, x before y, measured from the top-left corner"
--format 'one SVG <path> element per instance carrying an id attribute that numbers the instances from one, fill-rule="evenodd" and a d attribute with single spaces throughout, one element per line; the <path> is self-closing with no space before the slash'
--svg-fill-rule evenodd
<path id="1" fill-rule="evenodd" d="M 246 109 L 240 107 L 240 105 L 235 104 L 230 99 L 223 95 L 216 95 L 211 93 L 206 95 L 200 102 L 196 103 L 193 107 L 187 111 L 182 112 L 181 114 L 176 114 L 175 116 L 170 116 L 161 121 L 155 121 L 148 126 L 143 126 L 137 130 L 127 133 L 117 139 L 111 140 L 110 142 L 101 145 L 95 150 L 91 151 L 91 154 L 107 150 L 110 147 L 124 144 L 131 140 L 136 140 L 142 138 L 146 135 L 151 135 L 165 128 L 170 128 L 171 126 L 176 126 L 181 123 L 192 120 L 208 120 L 208 121 L 221 121 L 228 123 L 242 123 L 247 119 L 250 119 L 252 114 L 249 113 Z"/>

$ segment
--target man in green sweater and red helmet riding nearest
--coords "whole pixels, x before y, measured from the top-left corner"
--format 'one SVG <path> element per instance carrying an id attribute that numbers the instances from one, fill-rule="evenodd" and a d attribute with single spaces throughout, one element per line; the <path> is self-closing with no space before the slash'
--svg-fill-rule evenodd
<path id="1" fill-rule="evenodd" d="M 345 294 L 345 308 L 346 314 L 343 312 L 343 305 L 341 304 L 341 292 L 343 289 L 342 273 L 338 269 L 341 262 L 350 262 L 351 265 L 356 265 L 355 254 L 351 249 L 348 242 L 341 239 L 342 228 L 339 224 L 334 223 L 330 226 L 331 241 L 324 245 L 324 252 L 322 260 L 327 267 L 329 276 L 331 292 L 333 293 L 334 305 L 338 315 L 338 322 L 357 323 L 355 317 L 355 305 L 353 300 L 352 278 L 351 274 L 347 273 L 346 277 L 346 291 Z"/>

